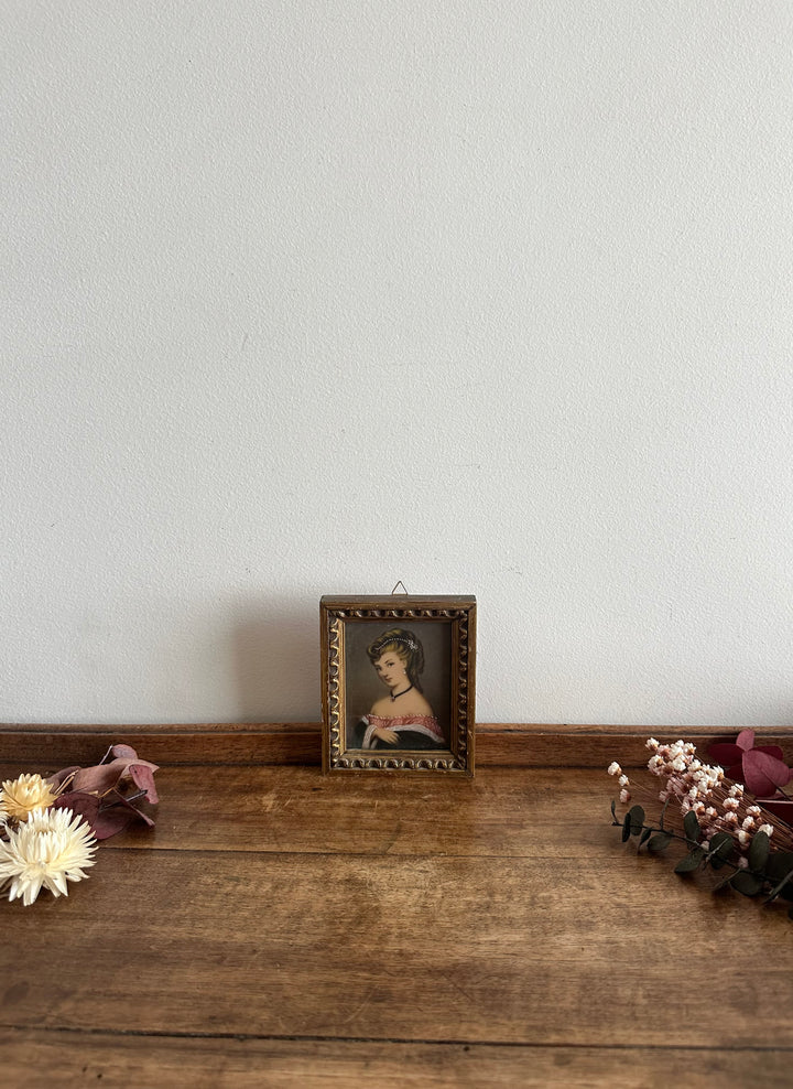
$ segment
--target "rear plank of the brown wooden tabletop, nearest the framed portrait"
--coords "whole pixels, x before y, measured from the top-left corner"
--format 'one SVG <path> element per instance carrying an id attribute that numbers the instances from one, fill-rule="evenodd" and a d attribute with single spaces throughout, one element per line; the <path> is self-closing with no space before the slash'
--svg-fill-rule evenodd
<path id="1" fill-rule="evenodd" d="M 22 770 L 0 764 L 0 781 Z M 602 849 L 615 795 L 604 768 L 571 775 L 488 767 L 470 780 L 323 776 L 317 767 L 294 766 L 163 767 L 156 783 L 156 827 L 118 835 L 102 850 L 189 844 L 226 852 L 580 858 Z"/>

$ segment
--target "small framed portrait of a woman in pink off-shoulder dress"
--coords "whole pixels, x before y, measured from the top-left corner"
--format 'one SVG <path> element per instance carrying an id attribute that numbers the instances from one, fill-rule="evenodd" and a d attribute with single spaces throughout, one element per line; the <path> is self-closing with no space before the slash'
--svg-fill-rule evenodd
<path id="1" fill-rule="evenodd" d="M 474 774 L 475 597 L 323 597 L 323 770 Z"/>

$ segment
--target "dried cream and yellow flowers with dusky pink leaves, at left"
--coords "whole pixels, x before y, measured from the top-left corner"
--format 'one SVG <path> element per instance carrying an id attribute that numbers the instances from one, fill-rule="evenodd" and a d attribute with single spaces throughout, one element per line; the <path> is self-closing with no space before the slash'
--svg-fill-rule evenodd
<path id="1" fill-rule="evenodd" d="M 65 767 L 7 779 L 0 788 L 0 889 L 31 905 L 42 888 L 67 896 L 68 882 L 88 876 L 99 840 L 151 816 L 138 805 L 156 805 L 156 764 L 129 745 L 112 745 L 93 767 Z"/>

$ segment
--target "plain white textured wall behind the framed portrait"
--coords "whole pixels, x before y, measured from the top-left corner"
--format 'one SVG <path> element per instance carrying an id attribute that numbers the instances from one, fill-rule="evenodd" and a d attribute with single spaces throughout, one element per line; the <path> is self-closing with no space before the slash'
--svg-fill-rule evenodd
<path id="1" fill-rule="evenodd" d="M 0 718 L 793 707 L 793 4 L 0 0 Z"/>

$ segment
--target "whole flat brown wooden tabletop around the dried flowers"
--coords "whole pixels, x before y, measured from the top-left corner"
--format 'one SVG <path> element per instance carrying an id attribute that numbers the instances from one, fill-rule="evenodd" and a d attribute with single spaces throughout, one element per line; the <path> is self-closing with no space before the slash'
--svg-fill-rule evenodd
<path id="1" fill-rule="evenodd" d="M 792 1085 L 786 910 L 637 856 L 612 781 L 163 766 L 153 831 L 0 901 L 3 1083 Z"/>

